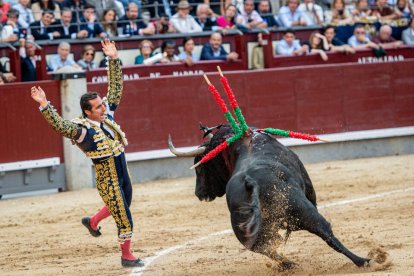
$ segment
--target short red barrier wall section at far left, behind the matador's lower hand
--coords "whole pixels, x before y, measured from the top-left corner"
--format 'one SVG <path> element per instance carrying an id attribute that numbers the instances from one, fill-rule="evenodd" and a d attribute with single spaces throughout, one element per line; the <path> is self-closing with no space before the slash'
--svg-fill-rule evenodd
<path id="1" fill-rule="evenodd" d="M 58 81 L 5 84 L 0 86 L 0 163 L 60 157 L 62 138 L 51 130 L 30 97 L 30 87 L 41 86 L 60 112 Z"/>

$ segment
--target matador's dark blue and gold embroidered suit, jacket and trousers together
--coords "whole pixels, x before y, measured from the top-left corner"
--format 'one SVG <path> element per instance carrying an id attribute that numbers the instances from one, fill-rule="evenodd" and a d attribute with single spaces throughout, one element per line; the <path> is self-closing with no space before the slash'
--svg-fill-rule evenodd
<path id="1" fill-rule="evenodd" d="M 122 71 L 119 59 L 108 61 L 108 94 L 103 98 L 107 114 L 103 124 L 79 117 L 65 120 L 48 104 L 42 114 L 52 128 L 71 139 L 95 164 L 96 186 L 118 227 L 119 241 L 131 239 L 133 222 L 129 206 L 132 186 L 125 160 L 125 134 L 114 121 L 122 96 Z M 102 127 L 102 128 L 101 128 Z"/>

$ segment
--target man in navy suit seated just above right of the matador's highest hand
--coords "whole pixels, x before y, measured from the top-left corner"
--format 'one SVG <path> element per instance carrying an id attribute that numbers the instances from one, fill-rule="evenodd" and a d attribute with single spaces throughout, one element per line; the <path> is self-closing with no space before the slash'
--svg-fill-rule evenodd
<path id="1" fill-rule="evenodd" d="M 124 17 L 119 20 L 119 26 L 122 27 L 123 35 L 152 35 L 155 28 L 152 24 L 144 23 L 139 17 L 138 6 L 134 2 L 128 4 Z"/>

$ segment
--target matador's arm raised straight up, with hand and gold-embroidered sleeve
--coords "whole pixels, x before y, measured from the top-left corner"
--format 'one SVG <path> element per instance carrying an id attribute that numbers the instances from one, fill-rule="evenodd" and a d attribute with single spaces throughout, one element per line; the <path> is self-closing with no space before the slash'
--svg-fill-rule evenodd
<path id="1" fill-rule="evenodd" d="M 105 39 L 101 42 L 102 50 L 108 58 L 108 104 L 110 111 L 115 111 L 122 97 L 122 70 L 121 62 L 115 42 Z"/>

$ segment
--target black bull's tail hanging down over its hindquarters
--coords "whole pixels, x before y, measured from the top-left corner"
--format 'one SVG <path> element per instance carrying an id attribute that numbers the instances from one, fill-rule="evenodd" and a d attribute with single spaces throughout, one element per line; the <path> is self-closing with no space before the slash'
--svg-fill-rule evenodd
<path id="1" fill-rule="evenodd" d="M 259 234 L 262 224 L 260 211 L 259 185 L 255 181 L 245 181 L 245 189 L 249 198 L 246 205 L 239 208 L 239 214 L 242 218 L 238 224 L 239 230 L 243 233 L 244 246 L 251 249 Z"/>

